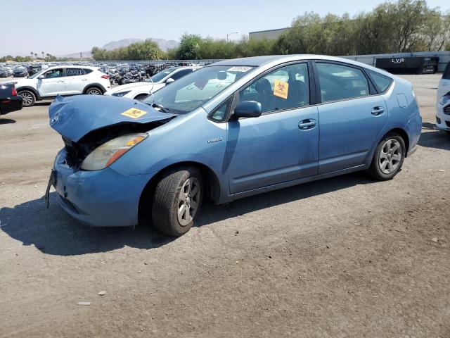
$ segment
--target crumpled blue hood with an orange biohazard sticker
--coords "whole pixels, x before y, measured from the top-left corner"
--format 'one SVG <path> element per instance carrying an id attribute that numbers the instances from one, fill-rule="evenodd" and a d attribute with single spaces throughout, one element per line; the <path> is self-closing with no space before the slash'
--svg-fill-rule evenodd
<path id="1" fill-rule="evenodd" d="M 103 95 L 57 96 L 49 107 L 50 126 L 72 142 L 109 125 L 151 123 L 174 116 L 136 100 Z"/>

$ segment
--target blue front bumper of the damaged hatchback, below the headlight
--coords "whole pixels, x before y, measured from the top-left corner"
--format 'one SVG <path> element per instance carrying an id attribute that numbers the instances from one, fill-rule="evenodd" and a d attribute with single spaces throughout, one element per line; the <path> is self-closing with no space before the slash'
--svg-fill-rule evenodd
<path id="1" fill-rule="evenodd" d="M 82 223 L 124 227 L 138 223 L 139 199 L 153 174 L 124 176 L 113 169 L 84 171 L 65 164 L 62 149 L 53 165 L 58 204 Z"/>

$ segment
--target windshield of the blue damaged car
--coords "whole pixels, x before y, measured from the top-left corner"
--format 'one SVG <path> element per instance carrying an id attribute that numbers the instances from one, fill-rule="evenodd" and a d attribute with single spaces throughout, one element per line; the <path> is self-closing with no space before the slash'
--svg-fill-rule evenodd
<path id="1" fill-rule="evenodd" d="M 210 101 L 252 69 L 232 65 L 201 68 L 147 96 L 143 103 L 157 104 L 170 113 L 185 114 Z"/>

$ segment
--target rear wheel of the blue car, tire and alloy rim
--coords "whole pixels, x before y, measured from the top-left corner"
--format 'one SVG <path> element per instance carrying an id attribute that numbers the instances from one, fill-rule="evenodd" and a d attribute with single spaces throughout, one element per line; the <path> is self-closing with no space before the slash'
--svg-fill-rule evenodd
<path id="1" fill-rule="evenodd" d="M 397 133 L 385 135 L 373 154 L 368 174 L 375 180 L 392 180 L 400 171 L 406 154 L 404 139 Z"/>

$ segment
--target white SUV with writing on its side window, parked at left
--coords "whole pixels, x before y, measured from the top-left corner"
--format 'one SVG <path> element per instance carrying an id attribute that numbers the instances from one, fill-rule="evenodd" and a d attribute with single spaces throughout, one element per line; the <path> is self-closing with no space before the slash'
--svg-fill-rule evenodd
<path id="1" fill-rule="evenodd" d="M 53 99 L 57 95 L 102 95 L 111 84 L 109 76 L 96 67 L 58 65 L 41 70 L 27 79 L 15 80 L 15 89 L 23 98 L 23 106 Z"/>

